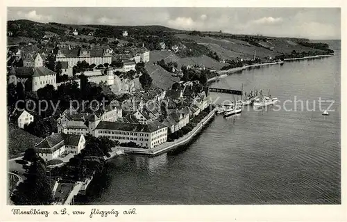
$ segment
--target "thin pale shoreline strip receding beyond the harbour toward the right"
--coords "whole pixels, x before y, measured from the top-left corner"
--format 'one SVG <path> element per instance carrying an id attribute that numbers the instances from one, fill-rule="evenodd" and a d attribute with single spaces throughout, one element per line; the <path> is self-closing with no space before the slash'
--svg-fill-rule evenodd
<path id="1" fill-rule="evenodd" d="M 323 58 L 323 57 L 330 57 L 330 56 L 334 56 L 334 55 L 328 54 L 328 55 L 317 55 L 317 56 L 305 56 L 305 57 L 300 57 L 300 58 L 285 58 L 284 61 L 296 61 L 296 60 L 305 60 L 305 59 L 310 59 L 310 58 Z M 260 67 L 260 66 L 264 66 L 264 65 L 278 65 L 278 64 L 284 63 L 284 61 L 273 62 L 273 63 L 259 63 L 259 64 L 253 64 L 253 65 L 245 65 L 245 66 L 238 67 L 238 68 L 232 68 L 230 70 L 220 70 L 220 71 L 217 71 L 217 74 L 218 74 L 217 76 L 208 79 L 207 82 L 209 83 L 210 81 L 214 81 L 214 80 L 217 80 L 220 78 L 227 77 L 228 74 L 232 74 L 235 72 L 246 70 L 248 68 Z"/>

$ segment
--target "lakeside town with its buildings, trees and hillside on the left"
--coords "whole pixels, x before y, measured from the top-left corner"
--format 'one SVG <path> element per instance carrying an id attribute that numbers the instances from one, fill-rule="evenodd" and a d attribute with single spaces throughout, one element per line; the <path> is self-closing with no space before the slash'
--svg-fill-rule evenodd
<path id="1" fill-rule="evenodd" d="M 176 38 L 165 27 L 99 28 L 8 22 L 8 39 L 31 37 L 8 43 L 7 51 L 15 205 L 73 204 L 108 159 L 155 155 L 189 143 L 217 111 L 208 82 L 226 72 L 333 52 L 293 39 L 272 39 L 292 47 L 274 51 L 271 39 L 232 35 L 250 49 L 230 56 L 217 54 L 211 42 L 194 42 L 205 35 L 217 41 L 221 32 L 184 31 Z"/>

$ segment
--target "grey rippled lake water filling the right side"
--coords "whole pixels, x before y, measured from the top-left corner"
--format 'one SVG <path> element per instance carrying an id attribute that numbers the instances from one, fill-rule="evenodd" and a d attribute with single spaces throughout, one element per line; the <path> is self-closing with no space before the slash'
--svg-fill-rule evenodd
<path id="1" fill-rule="evenodd" d="M 341 203 L 340 63 L 335 56 L 285 62 L 232 74 L 213 87 L 270 90 L 283 108 L 217 116 L 185 149 L 108 162 L 83 204 L 338 204 Z M 232 95 L 211 93 L 218 102 Z M 334 100 L 322 116 L 321 100 Z M 313 109 L 316 103 L 316 111 Z M 328 109 L 330 102 L 322 102 Z M 276 106 L 277 107 L 277 106 Z M 275 108 L 276 108 L 275 107 Z"/>

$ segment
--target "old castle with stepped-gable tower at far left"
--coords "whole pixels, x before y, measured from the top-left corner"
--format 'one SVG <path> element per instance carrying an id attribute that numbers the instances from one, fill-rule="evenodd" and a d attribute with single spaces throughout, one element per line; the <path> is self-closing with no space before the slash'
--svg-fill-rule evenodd
<path id="1" fill-rule="evenodd" d="M 26 91 L 36 92 L 46 85 L 52 85 L 57 88 L 56 72 L 49 70 L 44 66 L 44 60 L 37 54 L 33 67 L 11 68 L 8 72 L 8 83 L 22 83 Z"/>

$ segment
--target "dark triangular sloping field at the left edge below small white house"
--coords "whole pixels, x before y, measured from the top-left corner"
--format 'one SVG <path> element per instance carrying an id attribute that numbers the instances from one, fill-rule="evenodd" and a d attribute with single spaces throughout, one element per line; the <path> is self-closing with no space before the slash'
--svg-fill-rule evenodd
<path id="1" fill-rule="evenodd" d="M 8 125 L 8 157 L 19 157 L 26 149 L 33 148 L 42 138 L 29 134 L 17 126 Z"/>

